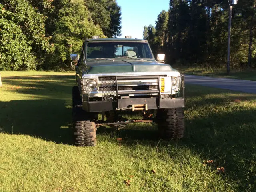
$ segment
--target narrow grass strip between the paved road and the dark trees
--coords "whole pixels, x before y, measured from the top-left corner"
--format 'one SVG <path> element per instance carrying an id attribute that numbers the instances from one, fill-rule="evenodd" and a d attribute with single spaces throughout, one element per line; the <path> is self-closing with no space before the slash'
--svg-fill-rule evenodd
<path id="1" fill-rule="evenodd" d="M 219 78 L 232 78 L 232 79 L 242 79 L 256 81 L 256 69 L 251 70 L 230 70 L 230 74 L 226 75 L 226 68 L 203 68 L 203 67 L 193 67 L 193 66 L 172 66 L 177 69 L 182 74 L 187 75 L 199 75 L 199 76 L 210 76 Z"/>

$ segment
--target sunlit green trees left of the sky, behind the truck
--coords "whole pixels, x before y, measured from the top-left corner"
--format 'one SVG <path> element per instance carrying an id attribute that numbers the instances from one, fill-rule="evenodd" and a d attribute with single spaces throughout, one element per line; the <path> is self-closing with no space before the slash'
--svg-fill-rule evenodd
<path id="1" fill-rule="evenodd" d="M 65 70 L 86 38 L 120 33 L 116 0 L 1 0 L 0 70 Z"/>

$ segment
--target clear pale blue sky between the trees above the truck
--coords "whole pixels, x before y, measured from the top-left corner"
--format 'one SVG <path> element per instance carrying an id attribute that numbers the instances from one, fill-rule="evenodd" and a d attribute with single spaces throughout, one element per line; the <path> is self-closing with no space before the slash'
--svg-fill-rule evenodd
<path id="1" fill-rule="evenodd" d="M 155 26 L 157 16 L 162 10 L 169 9 L 170 0 L 117 0 L 121 7 L 122 35 L 143 38 L 144 26 Z"/>

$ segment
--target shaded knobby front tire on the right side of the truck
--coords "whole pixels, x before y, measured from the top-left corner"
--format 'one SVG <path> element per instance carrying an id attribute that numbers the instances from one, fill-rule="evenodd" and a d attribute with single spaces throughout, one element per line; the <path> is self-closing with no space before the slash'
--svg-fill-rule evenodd
<path id="1" fill-rule="evenodd" d="M 160 109 L 157 114 L 160 138 L 175 140 L 184 137 L 184 113 L 182 108 Z"/>

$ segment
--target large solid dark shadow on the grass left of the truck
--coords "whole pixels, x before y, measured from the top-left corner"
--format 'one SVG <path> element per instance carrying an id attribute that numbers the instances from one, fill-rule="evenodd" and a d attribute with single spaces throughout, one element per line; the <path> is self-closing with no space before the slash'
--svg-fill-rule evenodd
<path id="1" fill-rule="evenodd" d="M 64 100 L 0 102 L 1 132 L 72 144 L 71 109 L 65 105 Z"/>

